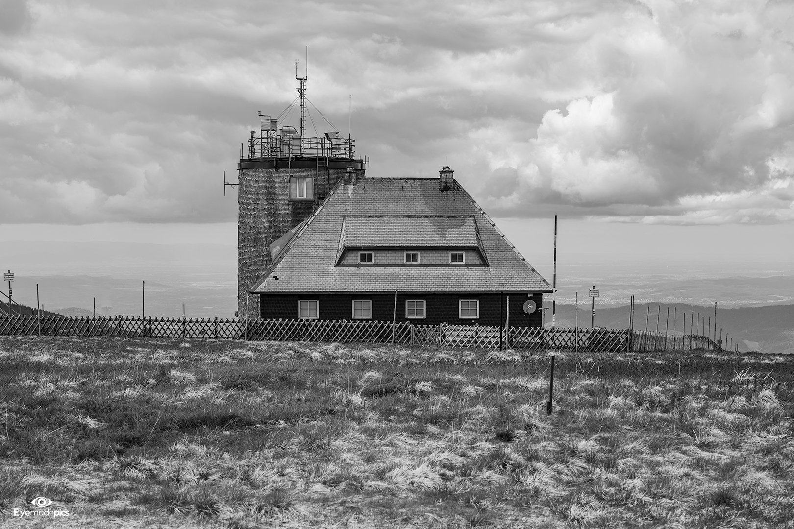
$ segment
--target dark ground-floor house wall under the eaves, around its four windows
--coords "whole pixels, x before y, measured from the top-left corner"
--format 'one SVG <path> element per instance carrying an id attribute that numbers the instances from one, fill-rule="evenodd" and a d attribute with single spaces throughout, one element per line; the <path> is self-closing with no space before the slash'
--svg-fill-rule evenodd
<path id="1" fill-rule="evenodd" d="M 522 306 L 527 299 L 533 299 L 542 307 L 542 294 L 534 293 L 397 293 L 397 314 L 395 320 L 413 321 L 418 325 L 430 324 L 463 324 L 463 325 L 499 325 L 507 316 L 507 296 L 510 296 L 511 327 L 540 327 L 542 316 L 540 309 L 527 315 Z M 426 318 L 407 319 L 406 301 L 426 300 Z M 461 319 L 458 313 L 458 301 L 461 299 L 480 300 L 480 318 L 476 320 Z M 320 320 L 353 320 L 353 300 L 372 300 L 372 320 L 391 321 L 394 317 L 394 293 L 341 293 L 341 294 L 261 294 L 260 316 L 264 319 L 298 318 L 298 301 L 317 300 L 319 302 Z"/>

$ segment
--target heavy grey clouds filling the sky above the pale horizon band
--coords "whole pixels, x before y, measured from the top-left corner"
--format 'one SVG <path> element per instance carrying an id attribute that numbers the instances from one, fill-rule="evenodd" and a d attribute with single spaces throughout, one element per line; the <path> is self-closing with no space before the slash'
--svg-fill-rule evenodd
<path id="1" fill-rule="evenodd" d="M 222 171 L 306 47 L 371 176 L 449 157 L 494 217 L 794 220 L 792 2 L 0 0 L 0 224 L 233 222 Z"/>

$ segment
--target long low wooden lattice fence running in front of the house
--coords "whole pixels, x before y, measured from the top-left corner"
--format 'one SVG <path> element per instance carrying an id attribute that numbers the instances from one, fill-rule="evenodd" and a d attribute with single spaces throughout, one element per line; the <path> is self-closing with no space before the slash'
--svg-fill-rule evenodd
<path id="1" fill-rule="evenodd" d="M 0 335 L 249 339 L 295 342 L 400 343 L 415 346 L 530 351 L 650 352 L 720 350 L 701 335 L 629 329 L 569 329 L 488 325 L 415 325 L 344 320 L 233 320 L 111 316 L 0 316 Z"/>

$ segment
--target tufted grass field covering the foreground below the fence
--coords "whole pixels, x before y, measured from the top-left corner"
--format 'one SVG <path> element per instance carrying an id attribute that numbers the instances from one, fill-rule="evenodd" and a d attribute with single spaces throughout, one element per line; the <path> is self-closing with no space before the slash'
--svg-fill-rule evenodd
<path id="1" fill-rule="evenodd" d="M 559 354 L 546 416 L 545 354 L 0 338 L 0 525 L 794 527 L 792 374 Z"/>

